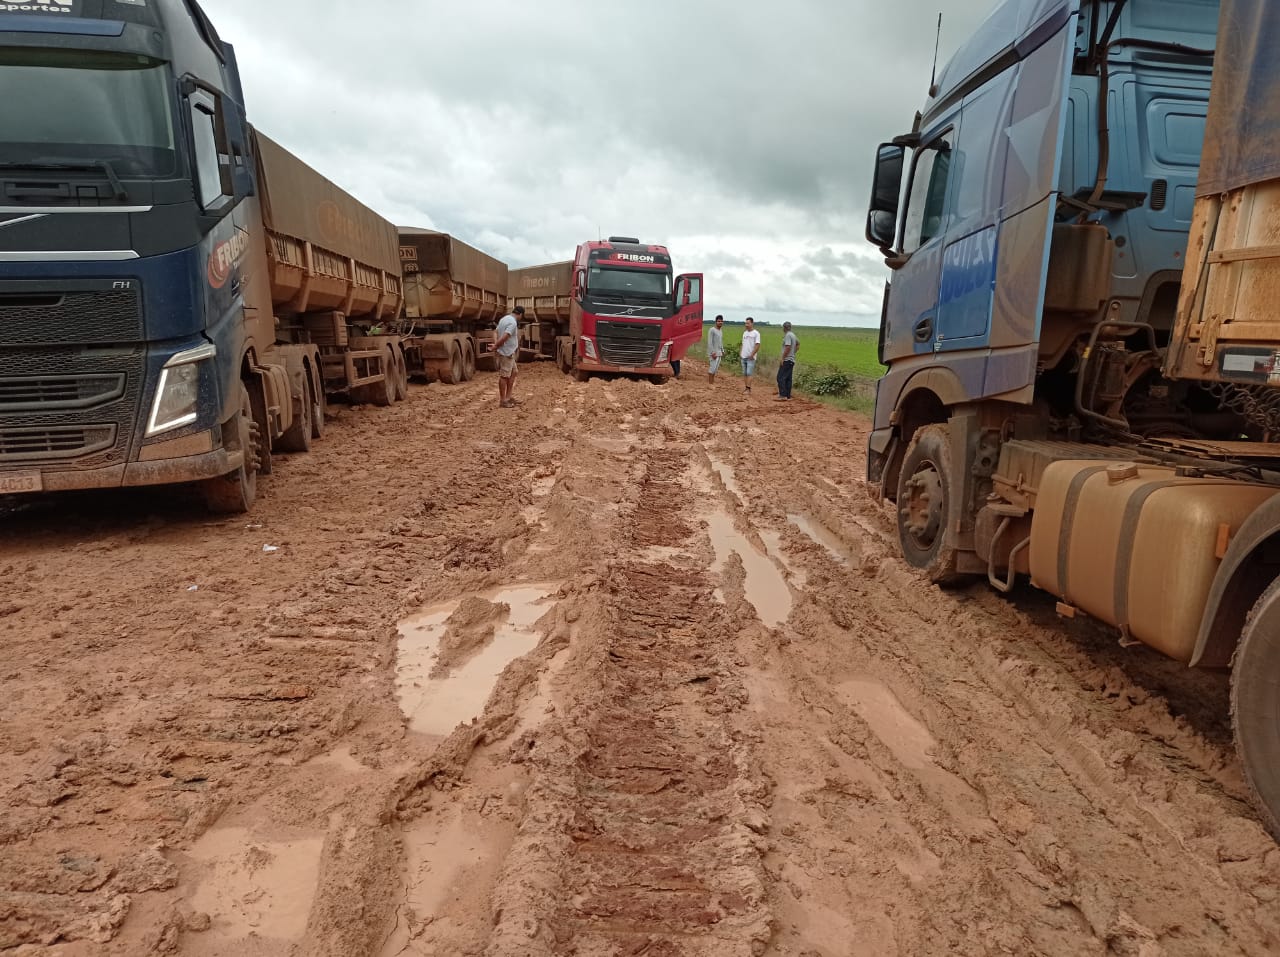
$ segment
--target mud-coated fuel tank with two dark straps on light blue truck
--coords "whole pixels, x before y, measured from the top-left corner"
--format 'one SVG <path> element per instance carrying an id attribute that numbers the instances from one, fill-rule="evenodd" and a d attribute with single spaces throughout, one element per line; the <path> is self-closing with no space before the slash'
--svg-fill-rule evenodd
<path id="1" fill-rule="evenodd" d="M 1167 466 L 1055 462 L 1032 517 L 1032 583 L 1190 661 L 1231 535 L 1277 489 Z"/>

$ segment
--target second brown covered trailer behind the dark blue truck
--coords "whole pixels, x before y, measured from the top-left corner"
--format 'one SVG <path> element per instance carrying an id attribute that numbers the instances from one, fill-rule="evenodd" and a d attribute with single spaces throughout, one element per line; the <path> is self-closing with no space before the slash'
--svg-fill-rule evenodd
<path id="1" fill-rule="evenodd" d="M 403 331 L 419 361 L 412 374 L 443 383 L 497 368 L 494 326 L 507 310 L 507 264 L 434 229 L 401 226 Z"/>

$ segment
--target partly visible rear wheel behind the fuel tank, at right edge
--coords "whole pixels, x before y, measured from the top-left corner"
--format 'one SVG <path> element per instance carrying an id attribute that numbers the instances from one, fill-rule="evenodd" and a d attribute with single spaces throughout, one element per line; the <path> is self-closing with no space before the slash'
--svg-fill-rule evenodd
<path id="1" fill-rule="evenodd" d="M 1231 725 L 1249 797 L 1280 841 L 1280 580 L 1244 623 L 1231 661 Z"/>

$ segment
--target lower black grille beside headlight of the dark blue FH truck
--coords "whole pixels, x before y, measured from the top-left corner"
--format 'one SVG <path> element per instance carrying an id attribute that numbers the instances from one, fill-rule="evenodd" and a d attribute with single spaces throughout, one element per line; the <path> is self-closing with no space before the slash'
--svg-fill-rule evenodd
<path id="1" fill-rule="evenodd" d="M 0 348 L 0 468 L 128 461 L 146 377 L 142 348 Z"/>

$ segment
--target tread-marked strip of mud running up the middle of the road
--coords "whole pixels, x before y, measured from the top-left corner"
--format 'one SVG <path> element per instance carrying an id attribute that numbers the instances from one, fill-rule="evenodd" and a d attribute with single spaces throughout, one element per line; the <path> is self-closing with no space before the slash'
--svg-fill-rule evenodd
<path id="1" fill-rule="evenodd" d="M 494 957 L 754 954 L 771 935 L 767 788 L 733 631 L 691 541 L 689 453 L 649 448 L 626 534 L 582 604 L 586 684 L 525 757 L 535 778 Z"/>

